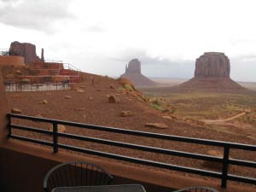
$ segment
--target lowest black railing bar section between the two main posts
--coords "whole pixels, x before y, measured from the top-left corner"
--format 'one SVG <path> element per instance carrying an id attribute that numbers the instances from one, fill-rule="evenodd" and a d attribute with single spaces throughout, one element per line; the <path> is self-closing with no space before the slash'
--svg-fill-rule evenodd
<path id="1" fill-rule="evenodd" d="M 175 170 L 175 171 L 189 172 L 189 173 L 199 174 L 199 175 L 203 175 L 203 176 L 221 178 L 220 172 L 210 172 L 207 170 L 189 168 L 187 166 L 176 166 L 176 165 L 161 163 L 161 162 L 153 161 L 153 160 L 143 160 L 143 159 L 138 159 L 138 158 L 129 157 L 129 156 L 125 156 L 125 155 L 110 154 L 110 153 L 106 153 L 106 152 L 102 152 L 102 151 L 96 151 L 96 150 L 92 150 L 92 149 L 88 149 L 88 148 L 73 147 L 70 145 L 60 144 L 60 143 L 57 144 L 57 146 L 58 146 L 58 148 L 65 148 L 68 150 L 82 152 L 85 154 L 94 154 L 94 155 L 98 155 L 98 156 L 102 156 L 102 157 L 113 158 L 115 160 L 125 160 L 128 162 L 133 162 L 133 163 L 146 165 L 146 166 L 154 166 L 154 167 L 166 168 L 166 169 Z"/>

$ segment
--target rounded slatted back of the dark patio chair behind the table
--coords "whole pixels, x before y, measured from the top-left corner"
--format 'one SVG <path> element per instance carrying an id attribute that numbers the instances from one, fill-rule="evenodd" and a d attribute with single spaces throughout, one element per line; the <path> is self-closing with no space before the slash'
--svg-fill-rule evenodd
<path id="1" fill-rule="evenodd" d="M 53 167 L 44 177 L 44 190 L 56 187 L 108 185 L 113 176 L 100 166 L 87 162 L 68 162 Z"/>

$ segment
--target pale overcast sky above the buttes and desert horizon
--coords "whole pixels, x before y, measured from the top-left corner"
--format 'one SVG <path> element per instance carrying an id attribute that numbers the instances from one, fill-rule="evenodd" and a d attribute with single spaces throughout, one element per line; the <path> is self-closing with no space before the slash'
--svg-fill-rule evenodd
<path id="1" fill-rule="evenodd" d="M 138 58 L 144 75 L 180 79 L 218 51 L 232 79 L 256 82 L 255 9 L 255 0 L 0 0 L 0 49 L 29 42 L 46 59 L 108 76 Z"/>

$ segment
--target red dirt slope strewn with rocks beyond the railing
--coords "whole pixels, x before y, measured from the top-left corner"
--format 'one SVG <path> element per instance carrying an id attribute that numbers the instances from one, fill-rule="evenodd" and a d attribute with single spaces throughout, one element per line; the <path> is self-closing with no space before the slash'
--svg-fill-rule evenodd
<path id="1" fill-rule="evenodd" d="M 95 79 L 95 85 L 91 84 L 92 77 Z M 113 84 L 115 89 L 110 89 L 110 84 Z M 118 88 L 120 86 L 121 85 L 114 79 L 84 73 L 84 82 L 77 85 L 77 87 L 84 90 L 84 92 L 78 92 L 77 90 L 9 92 L 7 93 L 7 96 L 11 108 L 20 108 L 22 114 L 26 115 L 41 115 L 45 118 L 51 119 L 63 119 L 86 124 L 113 126 L 139 131 L 151 131 L 184 137 L 200 137 L 235 143 L 256 144 L 255 142 L 253 143 L 253 140 L 248 140 L 247 137 L 239 134 L 234 135 L 230 133 L 219 133 L 218 131 L 205 129 L 201 125 L 189 125 L 185 122 L 164 119 L 162 116 L 169 115 L 168 113 L 162 113 L 154 108 L 150 108 L 148 103 L 138 100 L 138 98 L 133 96 L 130 92 L 119 93 Z M 119 99 L 119 103 L 108 102 L 107 95 L 111 94 L 115 95 Z M 65 96 L 71 96 L 71 98 L 66 99 Z M 90 97 L 92 97 L 92 99 L 90 99 Z M 48 104 L 40 104 L 40 102 L 43 100 L 47 100 Z M 134 115 L 131 117 L 120 117 L 119 113 L 123 110 L 129 110 L 134 113 Z M 47 129 L 48 126 L 44 123 L 38 124 L 36 122 L 28 122 L 25 120 L 15 120 L 15 123 L 38 126 L 44 129 Z M 144 125 L 146 123 L 165 123 L 169 126 L 169 128 L 154 129 L 145 127 Z M 67 127 L 67 132 L 86 135 L 89 137 L 111 139 L 125 143 L 137 143 L 153 147 L 171 148 L 201 154 L 206 154 L 207 150 L 210 149 L 218 149 L 222 151 L 221 148 L 169 142 L 160 139 L 132 137 L 122 134 L 104 131 L 90 131 L 74 127 Z M 50 137 L 37 133 L 27 133 L 26 131 L 14 131 L 14 133 L 26 135 L 27 137 L 38 137 L 41 139 L 51 140 Z M 79 142 L 72 139 L 61 138 L 60 142 L 97 150 L 100 148 L 102 151 L 124 154 L 137 158 L 158 160 L 181 166 L 194 166 L 197 168 L 207 169 L 203 166 L 204 162 L 200 160 L 189 160 L 164 154 L 154 154 L 126 148 L 110 147 L 103 144 Z M 246 160 L 256 160 L 255 154 L 250 152 L 243 153 L 239 150 L 232 150 L 230 155 L 237 159 L 242 158 Z M 256 173 L 250 168 L 232 166 L 230 167 L 230 172 L 256 177 Z"/>

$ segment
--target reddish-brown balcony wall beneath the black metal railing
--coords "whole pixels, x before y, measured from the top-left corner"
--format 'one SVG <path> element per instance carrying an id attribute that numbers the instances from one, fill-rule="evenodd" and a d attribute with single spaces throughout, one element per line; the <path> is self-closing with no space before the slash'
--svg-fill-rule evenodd
<path id="1" fill-rule="evenodd" d="M 0 148 L 0 191 L 43 192 L 44 176 L 50 168 L 62 162 L 86 161 L 102 166 L 110 172 L 114 177 L 113 184 L 139 183 L 147 192 L 171 192 L 173 189 L 189 186 L 209 186 L 219 192 L 255 192 L 255 188 L 249 185 L 228 183 L 227 189 L 221 189 L 218 179 L 131 166 L 106 158 L 71 154 L 64 150 L 57 154 L 52 151 L 52 148 L 9 139 L 8 143 Z"/>

